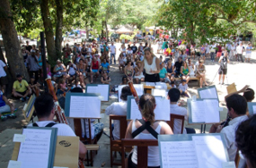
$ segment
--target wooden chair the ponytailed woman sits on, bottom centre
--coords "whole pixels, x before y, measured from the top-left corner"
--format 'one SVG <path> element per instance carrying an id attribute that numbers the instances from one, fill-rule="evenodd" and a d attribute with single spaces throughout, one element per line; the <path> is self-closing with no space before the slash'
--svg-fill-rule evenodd
<path id="1" fill-rule="evenodd" d="M 127 167 L 125 162 L 125 148 L 137 146 L 137 167 L 147 167 L 148 147 L 158 146 L 154 139 L 122 139 L 122 168 Z"/>

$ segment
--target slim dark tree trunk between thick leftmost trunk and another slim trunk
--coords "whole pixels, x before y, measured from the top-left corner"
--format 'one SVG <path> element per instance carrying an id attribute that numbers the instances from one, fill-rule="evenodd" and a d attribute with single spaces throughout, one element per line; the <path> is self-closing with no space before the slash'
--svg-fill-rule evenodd
<path id="1" fill-rule="evenodd" d="M 54 36 L 53 29 L 52 29 L 52 24 L 51 24 L 50 15 L 49 15 L 48 0 L 41 0 L 40 8 L 41 8 L 41 16 L 42 16 L 43 25 L 44 25 L 45 37 L 46 37 L 48 59 L 49 59 L 49 63 L 51 65 L 54 65 L 56 64 L 56 61 L 57 61 L 57 55 L 56 55 L 54 38 L 53 38 Z"/>

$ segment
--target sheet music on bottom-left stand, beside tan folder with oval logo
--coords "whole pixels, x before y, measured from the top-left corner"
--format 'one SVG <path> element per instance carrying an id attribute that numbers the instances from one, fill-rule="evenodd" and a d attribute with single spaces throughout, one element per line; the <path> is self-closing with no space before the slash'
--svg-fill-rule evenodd
<path id="1" fill-rule="evenodd" d="M 18 160 L 21 168 L 47 168 L 49 165 L 49 149 L 51 130 L 24 129 L 25 142 L 21 143 Z"/>

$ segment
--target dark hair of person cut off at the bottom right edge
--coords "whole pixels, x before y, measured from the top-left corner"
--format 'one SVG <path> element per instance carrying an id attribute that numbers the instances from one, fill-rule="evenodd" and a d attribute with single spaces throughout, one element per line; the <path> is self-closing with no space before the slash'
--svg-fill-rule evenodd
<path id="1" fill-rule="evenodd" d="M 243 121 L 235 131 L 236 147 L 256 167 L 256 115 Z"/>

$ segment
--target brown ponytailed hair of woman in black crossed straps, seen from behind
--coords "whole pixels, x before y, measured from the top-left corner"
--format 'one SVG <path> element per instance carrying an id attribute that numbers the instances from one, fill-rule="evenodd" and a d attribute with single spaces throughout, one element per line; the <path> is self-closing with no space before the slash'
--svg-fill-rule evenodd
<path id="1" fill-rule="evenodd" d="M 141 108 L 140 113 L 146 121 L 150 122 L 152 125 L 154 123 L 154 105 L 154 96 L 150 94 L 145 94 L 139 98 L 139 106 Z"/>

